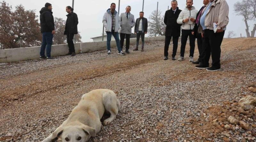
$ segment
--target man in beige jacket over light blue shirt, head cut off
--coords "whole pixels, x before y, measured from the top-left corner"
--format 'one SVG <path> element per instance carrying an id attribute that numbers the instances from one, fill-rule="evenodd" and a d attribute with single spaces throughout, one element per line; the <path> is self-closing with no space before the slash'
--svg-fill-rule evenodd
<path id="1" fill-rule="evenodd" d="M 207 71 L 220 71 L 221 43 L 228 25 L 229 7 L 226 0 L 209 0 L 200 18 L 199 33 L 202 31 L 203 50 L 202 64 L 196 65 L 198 69 Z M 213 27 L 213 26 L 216 27 Z M 209 59 L 212 55 L 212 67 L 209 68 Z"/>

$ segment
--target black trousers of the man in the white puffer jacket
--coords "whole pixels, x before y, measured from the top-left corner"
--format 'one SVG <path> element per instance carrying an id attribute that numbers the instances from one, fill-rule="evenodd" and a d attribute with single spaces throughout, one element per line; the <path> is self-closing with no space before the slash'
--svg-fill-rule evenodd
<path id="1" fill-rule="evenodd" d="M 181 47 L 180 47 L 180 56 L 184 57 L 186 44 L 188 41 L 189 36 L 189 45 L 190 45 L 190 51 L 189 51 L 189 57 L 194 57 L 194 51 L 195 51 L 195 41 L 196 38 L 192 34 L 192 30 L 181 30 Z"/>

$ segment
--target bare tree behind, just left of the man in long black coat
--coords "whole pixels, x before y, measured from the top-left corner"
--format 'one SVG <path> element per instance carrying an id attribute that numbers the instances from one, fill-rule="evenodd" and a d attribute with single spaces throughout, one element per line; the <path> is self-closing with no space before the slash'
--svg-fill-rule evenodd
<path id="1" fill-rule="evenodd" d="M 161 11 L 158 11 L 156 16 L 156 10 L 154 10 L 149 16 L 148 21 L 148 34 L 149 36 L 164 35 L 165 24 L 164 16 L 161 15 Z"/>

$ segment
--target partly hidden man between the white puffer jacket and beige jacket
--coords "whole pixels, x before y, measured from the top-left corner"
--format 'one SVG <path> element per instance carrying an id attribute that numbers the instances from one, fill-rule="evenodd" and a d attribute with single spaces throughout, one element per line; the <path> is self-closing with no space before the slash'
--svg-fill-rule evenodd
<path id="1" fill-rule="evenodd" d="M 204 8 L 206 7 L 206 5 L 209 3 L 209 0 L 203 0 L 203 4 L 204 6 L 198 11 L 197 15 L 196 15 L 196 24 L 194 26 L 194 29 L 192 31 L 192 34 L 195 36 L 195 38 L 197 38 L 197 47 L 198 47 L 198 52 L 199 52 L 199 57 L 197 61 L 193 61 L 193 64 L 200 64 L 202 61 L 202 55 L 204 54 L 203 51 L 203 37 L 202 37 L 202 33 L 198 33 L 198 27 L 200 26 L 200 18 L 202 16 L 202 11 L 204 10 Z"/>

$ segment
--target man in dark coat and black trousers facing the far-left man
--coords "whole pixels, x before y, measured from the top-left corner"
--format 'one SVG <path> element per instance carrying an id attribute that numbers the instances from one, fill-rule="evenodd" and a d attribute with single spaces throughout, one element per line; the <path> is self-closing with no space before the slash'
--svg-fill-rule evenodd
<path id="1" fill-rule="evenodd" d="M 75 46 L 73 42 L 74 34 L 78 34 L 77 32 L 77 25 L 78 25 L 78 18 L 76 13 L 73 12 L 73 8 L 71 6 L 66 7 L 66 11 L 68 12 L 67 21 L 65 26 L 64 35 L 67 35 L 67 42 L 68 42 L 68 55 L 75 56 Z"/>

